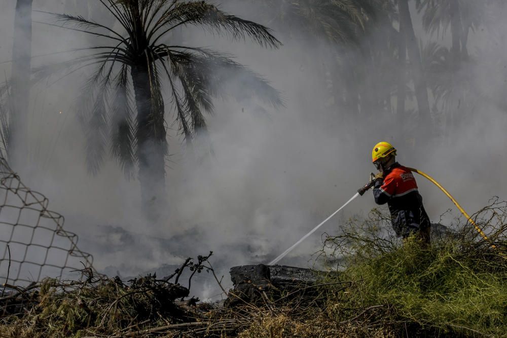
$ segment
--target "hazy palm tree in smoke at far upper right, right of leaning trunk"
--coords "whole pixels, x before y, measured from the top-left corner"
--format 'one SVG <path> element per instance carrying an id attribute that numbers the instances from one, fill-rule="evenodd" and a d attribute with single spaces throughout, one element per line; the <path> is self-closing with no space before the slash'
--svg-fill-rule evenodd
<path id="1" fill-rule="evenodd" d="M 470 0 L 417 0 L 416 8 L 424 11 L 423 27 L 430 34 L 444 37 L 450 27 L 450 49 L 430 43 L 423 51 L 428 84 L 435 105 L 445 113 L 446 134 L 449 134 L 457 123 L 456 111 L 460 115 L 472 111 L 478 102 L 472 74 L 461 68 L 464 62 L 475 66 L 468 55 L 468 34 L 485 22 L 487 4 Z"/>

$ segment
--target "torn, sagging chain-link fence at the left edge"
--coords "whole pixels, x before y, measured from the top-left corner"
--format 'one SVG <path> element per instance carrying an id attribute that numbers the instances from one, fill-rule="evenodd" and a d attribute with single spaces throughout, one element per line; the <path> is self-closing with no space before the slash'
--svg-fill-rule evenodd
<path id="1" fill-rule="evenodd" d="M 0 282 L 22 286 L 45 277 L 81 278 L 93 257 L 78 236 L 63 229 L 64 218 L 48 199 L 25 186 L 0 158 Z"/>

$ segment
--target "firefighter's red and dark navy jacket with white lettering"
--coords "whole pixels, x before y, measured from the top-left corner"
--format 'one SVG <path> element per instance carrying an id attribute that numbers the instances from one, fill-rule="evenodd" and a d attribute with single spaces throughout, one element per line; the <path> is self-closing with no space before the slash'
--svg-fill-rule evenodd
<path id="1" fill-rule="evenodd" d="M 375 203 L 387 203 L 396 236 L 405 238 L 430 226 L 414 174 L 399 163 L 385 170 L 384 180 L 373 187 L 373 196 Z"/>

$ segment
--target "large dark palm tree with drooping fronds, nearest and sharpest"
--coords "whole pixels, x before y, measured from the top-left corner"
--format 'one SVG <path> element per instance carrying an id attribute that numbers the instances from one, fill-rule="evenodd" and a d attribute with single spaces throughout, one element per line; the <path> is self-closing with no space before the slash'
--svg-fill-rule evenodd
<path id="1" fill-rule="evenodd" d="M 277 48 L 280 42 L 265 26 L 225 13 L 204 1 L 99 2 L 121 30 L 80 16 L 52 14 L 57 26 L 95 35 L 104 43 L 87 48 L 89 54 L 38 69 L 35 78 L 42 79 L 59 70 L 66 70 L 67 75 L 82 67 L 96 67 L 79 99 L 80 118 L 87 126 L 89 170 L 99 169 L 110 134 L 111 153 L 124 172 L 131 175 L 135 164 L 138 165 L 143 210 L 154 218 L 158 208 L 167 208 L 164 94 L 171 97 L 188 146 L 196 136 L 206 132 L 204 113 L 213 112 L 215 97 L 248 92 L 273 106 L 282 104 L 275 89 L 230 56 L 174 43 L 171 33 L 197 25 L 233 39 L 248 37 L 264 47 Z M 240 86 L 231 86 L 233 80 L 239 81 Z M 249 91 L 235 90 L 245 86 L 249 86 Z"/>

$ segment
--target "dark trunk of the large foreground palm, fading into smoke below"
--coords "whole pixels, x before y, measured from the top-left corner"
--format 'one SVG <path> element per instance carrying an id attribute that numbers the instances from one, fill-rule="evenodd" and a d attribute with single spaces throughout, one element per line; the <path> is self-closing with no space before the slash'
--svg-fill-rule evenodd
<path id="1" fill-rule="evenodd" d="M 139 182 L 141 203 L 144 215 L 156 222 L 160 213 L 166 210 L 165 192 L 165 128 L 153 117 L 155 109 L 163 109 L 154 104 L 152 85 L 147 62 L 136 65 L 131 70 L 137 107 L 137 158 L 139 163 Z"/>

